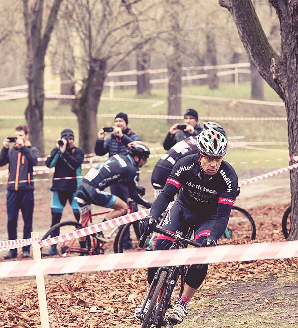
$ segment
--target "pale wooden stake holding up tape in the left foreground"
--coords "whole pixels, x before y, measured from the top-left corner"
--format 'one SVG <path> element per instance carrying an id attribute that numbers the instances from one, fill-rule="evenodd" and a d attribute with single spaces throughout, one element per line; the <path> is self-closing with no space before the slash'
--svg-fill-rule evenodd
<path id="1" fill-rule="evenodd" d="M 39 238 L 38 232 L 31 232 L 31 238 Z M 41 248 L 38 246 L 34 247 L 34 244 L 32 245 L 34 260 L 41 260 Z M 35 277 L 36 277 L 36 285 L 37 285 L 41 328 L 49 328 L 47 298 L 46 298 L 46 289 L 44 285 L 43 274 L 37 274 Z"/>

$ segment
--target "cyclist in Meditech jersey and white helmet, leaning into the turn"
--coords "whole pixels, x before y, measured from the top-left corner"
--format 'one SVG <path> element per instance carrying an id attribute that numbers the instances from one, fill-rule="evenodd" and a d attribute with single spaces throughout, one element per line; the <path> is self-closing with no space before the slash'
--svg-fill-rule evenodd
<path id="1" fill-rule="evenodd" d="M 202 246 L 216 246 L 229 221 L 238 178 L 232 166 L 222 160 L 227 151 L 227 140 L 221 133 L 205 130 L 198 136 L 196 145 L 199 153 L 185 156 L 174 165 L 150 215 L 140 221 L 141 233 L 153 231 L 158 216 L 178 193 L 162 228 L 186 233 L 188 227 L 194 225 L 195 241 Z M 169 249 L 170 246 L 171 239 L 158 236 L 155 250 Z M 169 314 L 172 322 L 181 323 L 187 315 L 186 306 L 203 283 L 207 268 L 208 264 L 189 268 L 183 295 Z M 155 272 L 156 268 L 148 268 L 148 286 Z M 140 313 L 141 305 L 136 308 L 136 315 Z"/>

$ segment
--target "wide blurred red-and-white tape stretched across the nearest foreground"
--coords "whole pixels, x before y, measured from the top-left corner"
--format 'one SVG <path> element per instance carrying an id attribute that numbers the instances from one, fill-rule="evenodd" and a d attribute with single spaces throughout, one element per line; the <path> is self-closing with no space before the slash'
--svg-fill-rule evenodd
<path id="1" fill-rule="evenodd" d="M 129 252 L 0 263 L 0 277 L 298 257 L 298 241 Z"/>

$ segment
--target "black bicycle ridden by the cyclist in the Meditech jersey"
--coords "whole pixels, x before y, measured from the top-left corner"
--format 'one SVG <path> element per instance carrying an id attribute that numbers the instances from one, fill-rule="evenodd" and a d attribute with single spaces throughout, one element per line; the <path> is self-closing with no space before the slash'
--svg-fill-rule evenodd
<path id="1" fill-rule="evenodd" d="M 185 237 L 182 236 L 182 232 L 180 231 L 176 231 L 175 234 L 160 228 L 155 228 L 154 231 L 174 239 L 170 249 L 178 249 L 179 246 L 181 248 L 186 248 L 188 245 L 192 245 L 195 247 L 201 246 L 201 244 L 191 240 L 191 237 L 193 236 L 194 232 L 193 227 L 189 228 Z M 143 247 L 147 236 L 148 234 L 143 234 L 141 236 L 139 243 L 140 247 Z M 171 296 L 179 280 L 179 277 L 181 280 L 181 287 L 178 299 L 181 297 L 184 290 L 184 280 L 187 270 L 188 266 L 184 265 L 173 267 L 159 267 L 157 269 L 157 272 L 150 285 L 141 311 L 138 315 L 138 318 L 143 322 L 142 328 L 160 328 L 163 326 L 172 328 L 174 326 L 175 323 L 171 322 L 171 319 L 167 317 L 166 312 L 168 309 L 173 308 Z M 150 300 L 147 311 L 144 312 L 146 304 L 149 300 L 149 295 L 153 288 L 155 288 L 154 294 Z"/>

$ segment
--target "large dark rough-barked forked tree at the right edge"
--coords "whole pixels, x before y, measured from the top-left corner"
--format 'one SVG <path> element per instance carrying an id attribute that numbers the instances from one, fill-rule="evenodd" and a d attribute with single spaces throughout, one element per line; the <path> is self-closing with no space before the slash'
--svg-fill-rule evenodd
<path id="1" fill-rule="evenodd" d="M 251 61 L 285 102 L 290 156 L 298 154 L 298 1 L 269 0 L 280 23 L 281 54 L 268 41 L 251 0 L 219 0 L 231 13 Z M 290 171 L 291 229 L 298 239 L 298 175 Z"/>

